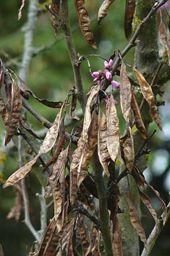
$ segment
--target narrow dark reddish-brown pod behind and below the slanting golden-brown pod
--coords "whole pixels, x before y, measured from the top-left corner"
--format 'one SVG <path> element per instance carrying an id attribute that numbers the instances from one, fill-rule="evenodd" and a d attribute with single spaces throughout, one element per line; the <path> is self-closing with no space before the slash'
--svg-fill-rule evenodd
<path id="1" fill-rule="evenodd" d="M 134 96 L 133 90 L 131 90 L 131 109 L 133 110 L 133 113 L 134 113 L 135 125 L 136 125 L 137 129 L 140 131 L 142 138 L 145 139 L 145 141 L 146 141 L 147 140 L 146 128 L 142 121 L 139 106 L 138 106 L 137 100 Z"/>

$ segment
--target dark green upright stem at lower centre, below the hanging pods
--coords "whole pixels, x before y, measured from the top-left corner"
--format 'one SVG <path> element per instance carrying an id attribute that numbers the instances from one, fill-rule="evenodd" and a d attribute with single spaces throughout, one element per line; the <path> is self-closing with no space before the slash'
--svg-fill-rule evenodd
<path id="1" fill-rule="evenodd" d="M 108 193 L 104 185 L 102 175 L 103 170 L 99 162 L 97 149 L 95 150 L 94 158 L 92 160 L 92 166 L 97 194 L 99 196 L 100 231 L 103 237 L 105 256 L 113 256 L 111 232 L 109 229 Z"/>

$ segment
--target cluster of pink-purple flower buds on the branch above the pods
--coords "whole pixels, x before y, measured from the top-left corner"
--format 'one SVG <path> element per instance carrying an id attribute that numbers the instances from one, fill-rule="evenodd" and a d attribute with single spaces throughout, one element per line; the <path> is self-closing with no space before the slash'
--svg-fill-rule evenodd
<path id="1" fill-rule="evenodd" d="M 117 81 L 113 80 L 112 73 L 111 73 L 112 65 L 113 65 L 112 59 L 110 59 L 109 61 L 105 60 L 104 61 L 104 67 L 105 67 L 104 72 L 101 70 L 98 70 L 91 74 L 92 77 L 94 78 L 93 81 L 97 82 L 97 84 L 100 84 L 100 88 L 102 87 L 102 84 L 101 84 L 102 77 L 105 77 L 105 79 L 107 79 L 109 82 L 111 82 L 113 88 L 118 89 L 120 87 L 120 84 Z M 105 98 L 105 102 L 108 102 L 108 97 Z M 118 102 L 116 100 L 114 102 L 116 105 L 118 104 Z"/>

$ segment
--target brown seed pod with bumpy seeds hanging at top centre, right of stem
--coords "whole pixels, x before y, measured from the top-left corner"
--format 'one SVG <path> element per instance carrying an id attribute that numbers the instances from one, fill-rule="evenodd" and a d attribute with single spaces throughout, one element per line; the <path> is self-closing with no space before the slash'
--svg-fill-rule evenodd
<path id="1" fill-rule="evenodd" d="M 76 13 L 78 15 L 80 28 L 82 34 L 86 39 L 87 43 L 90 44 L 92 48 L 97 49 L 96 42 L 94 40 L 94 35 L 90 28 L 90 18 L 87 13 L 86 4 L 84 0 L 74 0 Z"/>

